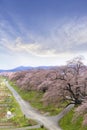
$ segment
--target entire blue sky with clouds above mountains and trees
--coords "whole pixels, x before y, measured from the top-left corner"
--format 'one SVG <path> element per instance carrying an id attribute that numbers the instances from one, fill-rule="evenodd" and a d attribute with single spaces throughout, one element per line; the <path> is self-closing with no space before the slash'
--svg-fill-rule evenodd
<path id="1" fill-rule="evenodd" d="M 87 0 L 0 0 L 0 69 L 87 64 Z"/>

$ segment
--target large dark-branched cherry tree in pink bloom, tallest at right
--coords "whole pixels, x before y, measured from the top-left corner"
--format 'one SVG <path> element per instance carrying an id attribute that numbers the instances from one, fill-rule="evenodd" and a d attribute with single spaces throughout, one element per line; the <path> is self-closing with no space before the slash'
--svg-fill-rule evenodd
<path id="1" fill-rule="evenodd" d="M 76 57 L 68 64 L 61 68 L 56 80 L 62 81 L 60 89 L 64 94 L 66 100 L 71 100 L 75 104 L 81 104 L 85 98 L 87 91 L 86 77 L 83 77 L 82 73 L 85 70 L 85 66 L 81 57 Z"/>

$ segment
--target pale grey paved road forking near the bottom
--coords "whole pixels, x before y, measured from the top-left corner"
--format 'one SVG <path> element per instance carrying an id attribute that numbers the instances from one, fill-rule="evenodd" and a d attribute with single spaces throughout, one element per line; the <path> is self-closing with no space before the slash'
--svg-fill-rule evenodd
<path id="1" fill-rule="evenodd" d="M 34 108 L 32 108 L 29 103 L 24 101 L 20 97 L 20 95 L 11 87 L 11 85 L 9 85 L 7 81 L 5 81 L 5 84 L 9 88 L 9 90 L 13 93 L 13 96 L 15 97 L 17 102 L 20 104 L 23 114 L 27 118 L 36 120 L 40 125 L 43 124 L 48 130 L 62 130 L 58 126 L 58 120 L 61 119 L 73 107 L 72 105 L 64 109 L 64 111 L 62 111 L 57 116 L 47 117 L 47 116 L 41 115 L 39 112 L 34 110 Z"/>

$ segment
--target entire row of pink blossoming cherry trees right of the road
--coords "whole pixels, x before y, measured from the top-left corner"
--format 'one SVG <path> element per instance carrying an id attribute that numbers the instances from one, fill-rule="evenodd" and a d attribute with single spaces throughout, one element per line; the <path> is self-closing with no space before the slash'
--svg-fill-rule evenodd
<path id="1" fill-rule="evenodd" d="M 87 66 L 82 57 L 76 57 L 65 66 L 52 69 L 33 69 L 8 73 L 8 78 L 14 81 L 20 89 L 42 91 L 41 101 L 45 104 L 56 104 L 67 101 L 79 105 L 76 115 L 84 115 L 83 124 L 87 124 Z"/>

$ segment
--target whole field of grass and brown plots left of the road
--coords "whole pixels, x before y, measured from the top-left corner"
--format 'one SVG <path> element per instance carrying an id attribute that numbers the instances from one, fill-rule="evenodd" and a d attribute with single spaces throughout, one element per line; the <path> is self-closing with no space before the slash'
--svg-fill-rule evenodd
<path id="1" fill-rule="evenodd" d="M 10 111 L 13 117 L 7 118 L 7 111 Z M 0 79 L 0 125 L 25 127 L 32 126 L 35 124 L 35 121 L 24 117 L 19 104 L 16 102 L 12 93 L 5 86 L 3 80 Z"/>

